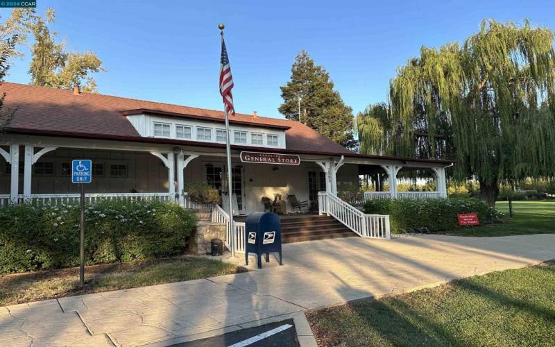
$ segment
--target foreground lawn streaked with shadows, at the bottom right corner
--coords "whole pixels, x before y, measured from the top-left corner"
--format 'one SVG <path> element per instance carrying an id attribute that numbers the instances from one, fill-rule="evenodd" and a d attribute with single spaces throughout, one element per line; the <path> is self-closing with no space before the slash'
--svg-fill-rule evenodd
<path id="1" fill-rule="evenodd" d="M 318 346 L 554 346 L 555 262 L 307 313 Z"/>

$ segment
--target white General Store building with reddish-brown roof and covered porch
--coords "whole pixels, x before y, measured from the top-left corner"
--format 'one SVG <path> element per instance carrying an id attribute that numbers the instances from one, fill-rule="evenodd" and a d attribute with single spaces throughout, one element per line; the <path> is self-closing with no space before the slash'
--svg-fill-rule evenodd
<path id="1" fill-rule="evenodd" d="M 74 198 L 74 159 L 93 162 L 90 198 L 160 198 L 188 207 L 188 183 L 230 190 L 222 112 L 15 83 L 1 89 L 15 117 L 0 137 L 0 204 Z M 263 211 L 262 197 L 277 195 L 309 201 L 317 212 L 318 192 L 355 192 L 365 174 L 382 174 L 389 188 L 364 198 L 447 196 L 451 162 L 359 155 L 296 121 L 236 115 L 230 139 L 237 214 Z M 435 176 L 435 192 L 397 191 L 400 171 L 414 169 Z M 296 212 L 286 206 L 282 212 Z"/>

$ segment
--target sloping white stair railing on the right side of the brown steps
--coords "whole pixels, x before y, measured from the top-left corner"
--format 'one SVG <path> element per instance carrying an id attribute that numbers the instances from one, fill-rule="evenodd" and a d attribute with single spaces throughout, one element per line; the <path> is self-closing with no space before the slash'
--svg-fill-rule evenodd
<path id="1" fill-rule="evenodd" d="M 330 192 L 318 192 L 320 214 L 329 214 L 361 237 L 391 239 L 389 216 L 364 214 Z"/>

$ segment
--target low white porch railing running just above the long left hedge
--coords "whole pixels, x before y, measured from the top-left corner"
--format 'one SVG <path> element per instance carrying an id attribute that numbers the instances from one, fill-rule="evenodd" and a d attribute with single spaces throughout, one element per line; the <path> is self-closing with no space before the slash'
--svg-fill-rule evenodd
<path id="1" fill-rule="evenodd" d="M 59 203 L 78 203 L 80 194 L 31 194 L 29 203 L 47 203 L 58 205 Z M 171 201 L 173 195 L 169 193 L 86 193 L 85 202 L 96 203 L 102 200 L 160 200 Z M 19 194 L 17 203 L 24 201 L 23 195 Z M 10 203 L 10 195 L 0 195 L 0 206 Z"/>

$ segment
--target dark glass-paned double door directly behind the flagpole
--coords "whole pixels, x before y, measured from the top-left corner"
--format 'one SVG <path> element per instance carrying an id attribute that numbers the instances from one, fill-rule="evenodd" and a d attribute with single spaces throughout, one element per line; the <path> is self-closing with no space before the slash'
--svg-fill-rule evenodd
<path id="1" fill-rule="evenodd" d="M 246 213 L 245 189 L 244 189 L 244 167 L 234 165 L 231 171 L 233 193 L 237 197 L 237 208 L 239 213 Z M 220 196 L 225 198 L 228 192 L 228 171 L 224 164 L 211 163 L 205 164 L 205 181 L 212 187 L 218 189 Z"/>

